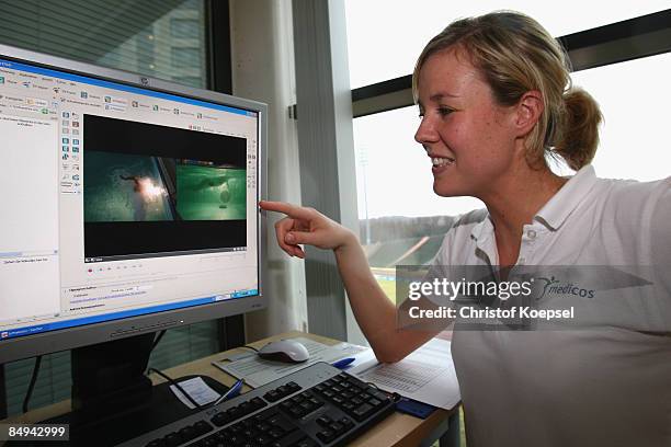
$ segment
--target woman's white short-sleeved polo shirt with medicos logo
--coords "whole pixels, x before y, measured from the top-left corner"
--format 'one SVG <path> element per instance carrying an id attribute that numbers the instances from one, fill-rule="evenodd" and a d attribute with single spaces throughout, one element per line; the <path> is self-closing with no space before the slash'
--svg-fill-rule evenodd
<path id="1" fill-rule="evenodd" d="M 486 210 L 457 219 L 435 264 L 498 265 Z M 581 169 L 524 226 L 521 264 L 646 266 L 652 285 L 576 298 L 578 329 L 456 331 L 468 447 L 671 447 L 671 177 Z"/>

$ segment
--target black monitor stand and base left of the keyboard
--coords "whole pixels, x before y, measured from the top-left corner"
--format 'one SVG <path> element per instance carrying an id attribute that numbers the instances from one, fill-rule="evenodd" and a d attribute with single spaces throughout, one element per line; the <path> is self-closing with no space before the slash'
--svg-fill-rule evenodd
<path id="1" fill-rule="evenodd" d="M 43 422 L 69 424 L 70 445 L 112 446 L 201 411 L 145 376 L 152 344 L 153 334 L 143 334 L 72 349 L 72 411 Z M 228 390 L 201 377 L 218 393 Z"/>

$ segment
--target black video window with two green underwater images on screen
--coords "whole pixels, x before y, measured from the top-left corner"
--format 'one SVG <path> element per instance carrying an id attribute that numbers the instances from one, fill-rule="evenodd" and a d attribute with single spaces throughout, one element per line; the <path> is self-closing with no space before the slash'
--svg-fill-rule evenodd
<path id="1" fill-rule="evenodd" d="M 84 261 L 247 245 L 244 138 L 83 118 Z"/>

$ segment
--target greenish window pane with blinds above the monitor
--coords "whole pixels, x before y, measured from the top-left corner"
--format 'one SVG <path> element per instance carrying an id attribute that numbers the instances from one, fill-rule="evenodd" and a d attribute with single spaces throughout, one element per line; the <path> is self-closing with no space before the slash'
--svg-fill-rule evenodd
<path id="1" fill-rule="evenodd" d="M 205 0 L 0 0 L 3 4 L 0 43 L 177 82 L 187 79 L 193 87 L 207 84 Z"/>

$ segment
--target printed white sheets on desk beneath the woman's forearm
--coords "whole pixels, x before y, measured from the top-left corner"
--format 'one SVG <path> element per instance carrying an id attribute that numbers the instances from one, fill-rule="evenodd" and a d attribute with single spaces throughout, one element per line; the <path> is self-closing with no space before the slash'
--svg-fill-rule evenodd
<path id="1" fill-rule="evenodd" d="M 450 410 L 462 400 L 450 348 L 448 341 L 433 339 L 395 364 L 380 364 L 364 353 L 348 373 L 385 391 Z"/>

